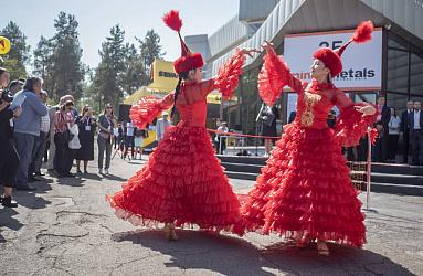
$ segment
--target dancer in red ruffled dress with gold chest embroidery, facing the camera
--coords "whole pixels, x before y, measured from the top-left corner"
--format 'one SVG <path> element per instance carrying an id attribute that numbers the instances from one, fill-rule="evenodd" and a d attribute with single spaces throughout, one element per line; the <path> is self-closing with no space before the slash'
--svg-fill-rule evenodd
<path id="1" fill-rule="evenodd" d="M 265 62 L 258 76 L 258 92 L 273 105 L 288 85 L 297 93 L 297 116 L 284 134 L 248 193 L 243 214 L 250 231 L 276 232 L 294 238 L 298 246 L 317 241 L 319 254 L 328 255 L 327 241 L 360 247 L 366 242 L 361 202 L 357 198 L 341 146 L 357 145 L 376 119 L 370 104 L 353 104 L 332 84 L 342 71 L 346 46 L 371 39 L 373 25 L 363 22 L 338 51 L 320 49 L 310 67 L 307 84 L 289 72 L 266 42 Z M 336 128 L 327 125 L 334 106 L 340 110 Z"/>

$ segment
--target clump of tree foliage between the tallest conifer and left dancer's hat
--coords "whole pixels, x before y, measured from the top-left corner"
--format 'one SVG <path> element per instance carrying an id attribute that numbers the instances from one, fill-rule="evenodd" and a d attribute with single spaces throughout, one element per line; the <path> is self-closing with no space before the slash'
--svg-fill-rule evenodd
<path id="1" fill-rule="evenodd" d="M 109 36 L 102 44 L 102 61 L 94 70 L 87 98 L 94 108 L 101 109 L 110 103 L 118 107 L 123 97 L 133 94 L 150 82 L 149 67 L 155 59 L 163 55 L 160 38 L 154 30 L 147 32 L 140 43 L 139 52 L 134 44 L 125 44 L 125 32 L 119 25 L 110 29 Z"/>

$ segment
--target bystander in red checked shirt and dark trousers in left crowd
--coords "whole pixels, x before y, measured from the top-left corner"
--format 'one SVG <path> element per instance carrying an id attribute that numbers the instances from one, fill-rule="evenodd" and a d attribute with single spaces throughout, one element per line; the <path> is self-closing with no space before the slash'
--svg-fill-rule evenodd
<path id="1" fill-rule="evenodd" d="M 72 116 L 73 106 L 73 102 L 67 100 L 54 115 L 54 145 L 56 147 L 54 167 L 59 177 L 62 178 L 75 177 L 75 174 L 71 173 L 74 151 L 68 146 L 68 142 L 73 138 L 70 131 L 71 126 L 74 124 Z"/>

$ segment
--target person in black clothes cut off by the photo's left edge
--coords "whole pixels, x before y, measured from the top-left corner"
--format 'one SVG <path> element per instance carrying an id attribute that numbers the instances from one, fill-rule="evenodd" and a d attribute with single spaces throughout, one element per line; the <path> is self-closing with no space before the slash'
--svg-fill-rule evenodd
<path id="1" fill-rule="evenodd" d="M 21 115 L 20 106 L 12 109 L 10 103 L 13 97 L 7 91 L 10 74 L 6 68 L 0 67 L 0 183 L 4 193 L 0 202 L 7 208 L 17 208 L 18 203 L 12 199 L 12 190 L 15 184 L 15 174 L 19 166 L 19 156 L 13 144 L 13 132 L 10 120 Z"/>

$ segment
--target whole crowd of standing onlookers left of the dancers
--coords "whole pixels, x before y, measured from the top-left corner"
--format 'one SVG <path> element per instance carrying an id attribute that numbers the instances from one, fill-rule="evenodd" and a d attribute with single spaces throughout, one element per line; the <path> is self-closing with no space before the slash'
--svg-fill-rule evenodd
<path id="1" fill-rule="evenodd" d="M 88 173 L 88 162 L 94 160 L 97 131 L 101 174 L 109 174 L 114 140 L 121 146 L 123 156 L 128 155 L 129 147 L 133 158 L 142 153 L 142 139 L 148 131 L 127 123 L 121 128 L 125 132 L 120 132 L 110 104 L 105 105 L 98 119 L 88 105 L 78 113 L 72 95 L 65 95 L 57 105 L 50 106 L 41 77 L 10 82 L 9 71 L 2 67 L 0 93 L 0 183 L 4 190 L 1 197 L 4 206 L 18 206 L 12 199 L 13 188 L 36 190 L 32 183 L 45 176 L 42 168 L 46 168 L 50 176 L 59 178 Z M 73 173 L 71 170 L 75 162 L 76 173 Z"/>

